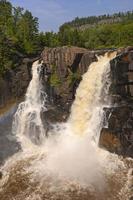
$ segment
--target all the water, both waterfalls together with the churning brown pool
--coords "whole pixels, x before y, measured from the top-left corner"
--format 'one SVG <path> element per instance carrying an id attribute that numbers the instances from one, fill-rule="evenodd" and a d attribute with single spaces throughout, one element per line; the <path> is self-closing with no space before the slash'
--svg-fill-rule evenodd
<path id="1" fill-rule="evenodd" d="M 129 200 L 132 160 L 98 147 L 103 107 L 110 104 L 109 62 L 115 56 L 105 54 L 89 66 L 68 121 L 53 125 L 49 137 L 41 119 L 47 110 L 42 63 L 33 64 L 25 101 L 13 122 L 22 151 L 2 168 L 1 200 Z"/>

